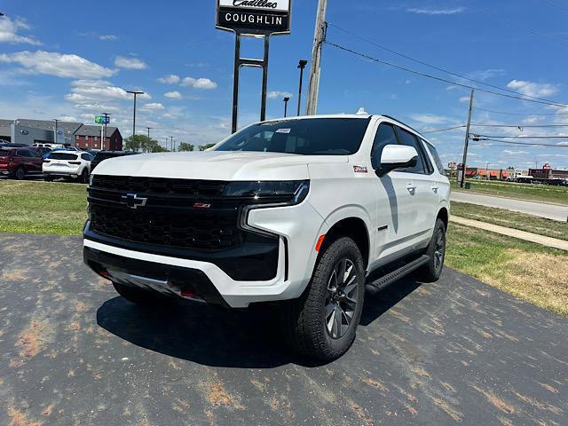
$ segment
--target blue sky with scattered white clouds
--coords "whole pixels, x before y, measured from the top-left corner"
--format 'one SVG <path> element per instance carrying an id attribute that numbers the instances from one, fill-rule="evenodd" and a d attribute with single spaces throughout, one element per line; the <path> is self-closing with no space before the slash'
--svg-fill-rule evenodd
<path id="1" fill-rule="evenodd" d="M 124 90 L 146 91 L 139 100 L 138 131 L 153 127 L 199 145 L 224 138 L 230 128 L 234 37 L 214 26 L 215 1 L 150 2 L 5 0 L 0 12 L 0 118 L 64 118 L 91 122 L 113 114 L 126 137 L 131 100 Z M 298 59 L 310 59 L 317 0 L 293 3 L 291 36 L 271 44 L 268 116 L 283 114 L 282 96 L 295 110 Z M 422 61 L 540 98 L 568 102 L 568 5 L 559 0 L 339 2 L 327 21 Z M 335 27 L 327 39 L 371 56 L 454 79 L 399 58 Z M 262 42 L 248 39 L 243 56 L 260 58 Z M 258 119 L 260 77 L 241 74 L 240 125 Z M 456 80 L 454 79 L 455 81 Z M 305 79 L 307 83 L 307 78 Z M 462 82 L 463 83 L 463 82 Z M 364 106 L 391 114 L 417 130 L 466 122 L 469 91 L 324 48 L 319 113 L 353 113 Z M 519 126 L 568 124 L 568 107 L 478 93 L 474 122 Z M 514 113 L 494 114 L 485 109 Z M 476 128 L 493 136 L 565 135 L 568 127 Z M 463 130 L 430 134 L 444 162 L 459 161 Z M 517 140 L 518 139 L 511 139 Z M 534 141 L 534 140 L 532 140 Z M 567 139 L 555 147 L 501 142 L 471 147 L 470 164 L 527 168 L 549 162 L 568 168 Z M 528 142 L 528 141 L 521 141 Z"/>

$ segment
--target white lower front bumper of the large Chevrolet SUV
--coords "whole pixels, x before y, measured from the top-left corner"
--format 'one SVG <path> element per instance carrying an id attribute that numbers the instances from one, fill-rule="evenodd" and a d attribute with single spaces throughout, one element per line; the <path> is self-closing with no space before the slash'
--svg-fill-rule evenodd
<path id="1" fill-rule="evenodd" d="M 222 269 L 222 264 L 216 264 L 217 259 L 203 257 L 196 260 L 180 256 L 182 253 L 178 256 L 149 253 L 142 245 L 134 248 L 129 244 L 127 248 L 117 247 L 113 242 L 94 241 L 88 226 L 83 241 L 85 263 L 95 272 L 106 269 L 111 274 L 110 279 L 126 280 L 133 286 L 144 287 L 143 281 L 147 279 L 162 281 L 162 287 L 178 296 L 180 284 L 191 287 L 196 281 L 205 282 L 198 285 L 201 291 L 202 287 L 208 286 L 214 291 L 206 289 L 206 294 L 201 295 L 200 288 L 195 288 L 195 293 L 206 302 L 231 308 L 247 308 L 249 304 L 289 300 L 302 295 L 312 277 L 318 255 L 315 251 L 318 237 L 327 233 L 322 217 L 304 201 L 292 207 L 251 210 L 248 225 L 279 236 L 276 273 L 271 273 L 273 278 L 270 280 L 245 280 L 242 276 L 235 280 Z M 171 270 L 175 270 L 174 279 Z M 114 277 L 113 271 L 122 273 L 120 277 L 119 274 Z M 201 272 L 201 278 L 195 278 L 196 272 Z M 221 303 L 215 297 L 207 296 L 209 293 L 218 293 Z"/>

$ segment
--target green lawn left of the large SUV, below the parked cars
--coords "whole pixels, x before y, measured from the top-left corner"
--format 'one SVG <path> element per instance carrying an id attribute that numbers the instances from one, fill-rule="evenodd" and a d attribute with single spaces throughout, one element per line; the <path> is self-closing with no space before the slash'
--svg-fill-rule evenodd
<path id="1" fill-rule="evenodd" d="M 80 234 L 85 185 L 0 180 L 0 233 Z"/>

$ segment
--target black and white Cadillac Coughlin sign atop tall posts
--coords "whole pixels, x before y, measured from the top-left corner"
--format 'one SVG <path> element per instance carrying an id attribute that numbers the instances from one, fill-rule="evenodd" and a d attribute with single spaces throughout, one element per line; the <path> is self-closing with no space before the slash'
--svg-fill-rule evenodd
<path id="1" fill-rule="evenodd" d="M 291 0 L 217 0 L 217 28 L 241 34 L 287 34 Z"/>

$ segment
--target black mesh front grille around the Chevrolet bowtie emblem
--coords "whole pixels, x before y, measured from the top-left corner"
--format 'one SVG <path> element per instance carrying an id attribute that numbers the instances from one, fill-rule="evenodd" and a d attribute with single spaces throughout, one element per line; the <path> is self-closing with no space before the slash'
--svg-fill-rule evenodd
<path id="1" fill-rule="evenodd" d="M 222 197 L 225 182 L 95 175 L 89 188 L 90 229 L 120 240 L 158 246 L 223 250 L 247 240 L 238 226 L 248 201 Z M 122 197 L 136 193 L 146 206 L 130 209 Z M 193 207 L 195 202 L 209 209 Z"/>

